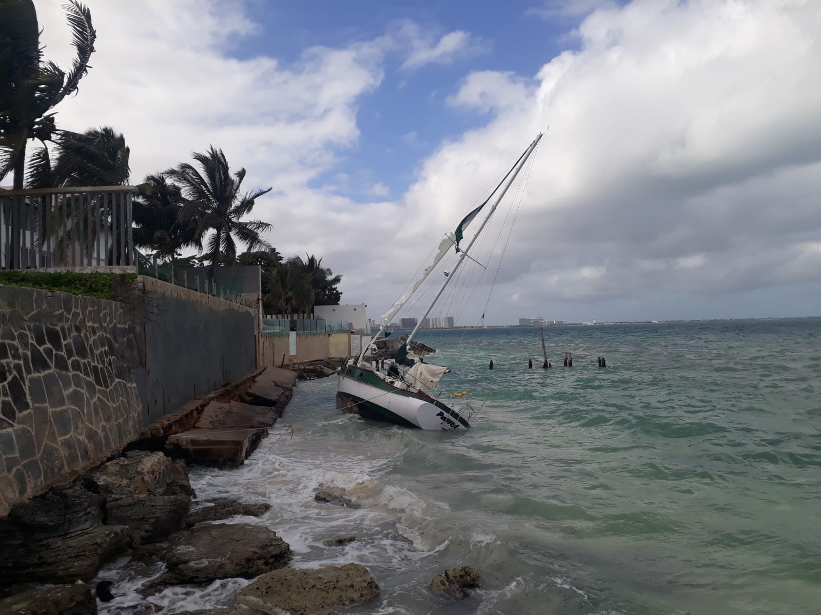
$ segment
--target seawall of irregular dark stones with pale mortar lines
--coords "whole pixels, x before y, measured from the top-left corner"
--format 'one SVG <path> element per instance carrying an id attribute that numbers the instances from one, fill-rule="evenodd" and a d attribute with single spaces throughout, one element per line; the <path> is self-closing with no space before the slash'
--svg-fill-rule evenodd
<path id="1" fill-rule="evenodd" d="M 149 423 L 129 307 L 0 285 L 0 517 Z"/>

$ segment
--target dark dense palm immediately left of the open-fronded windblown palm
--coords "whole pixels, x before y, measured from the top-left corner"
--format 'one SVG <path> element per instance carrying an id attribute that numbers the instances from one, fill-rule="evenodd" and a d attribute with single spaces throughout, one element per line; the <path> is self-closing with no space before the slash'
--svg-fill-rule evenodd
<path id="1" fill-rule="evenodd" d="M 166 175 L 148 175 L 134 201 L 134 243 L 159 256 L 172 256 L 180 248 L 201 248 L 195 223 L 181 219 L 185 204 L 180 187 L 169 183 Z"/>

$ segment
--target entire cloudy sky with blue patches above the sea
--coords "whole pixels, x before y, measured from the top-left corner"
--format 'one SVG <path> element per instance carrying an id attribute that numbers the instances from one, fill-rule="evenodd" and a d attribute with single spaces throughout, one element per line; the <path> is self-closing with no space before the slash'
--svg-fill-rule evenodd
<path id="1" fill-rule="evenodd" d="M 818 0 L 88 4 L 60 124 L 122 131 L 132 183 L 222 148 L 369 316 L 542 130 L 487 324 L 821 315 Z"/>

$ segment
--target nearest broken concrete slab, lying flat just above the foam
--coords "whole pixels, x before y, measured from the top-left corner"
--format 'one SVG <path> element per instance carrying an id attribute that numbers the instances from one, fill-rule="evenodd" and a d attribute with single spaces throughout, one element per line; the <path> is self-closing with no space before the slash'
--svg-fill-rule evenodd
<path id="1" fill-rule="evenodd" d="M 189 463 L 237 467 L 266 435 L 266 429 L 192 429 L 169 436 L 165 449 Z"/>

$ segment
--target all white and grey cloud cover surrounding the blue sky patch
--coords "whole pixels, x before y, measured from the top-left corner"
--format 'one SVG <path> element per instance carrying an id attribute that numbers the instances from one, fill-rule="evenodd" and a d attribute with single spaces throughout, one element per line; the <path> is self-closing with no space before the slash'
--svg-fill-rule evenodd
<path id="1" fill-rule="evenodd" d="M 545 57 L 535 75 L 467 75 L 445 108 L 490 112 L 484 125 L 409 161 L 416 179 L 401 199 L 365 204 L 310 182 L 356 146 L 360 101 L 381 83 L 385 54 L 406 63 L 417 54 L 411 65 L 423 66 L 464 57 L 471 44 L 405 25 L 307 49 L 292 63 L 237 60 L 232 43 L 256 31 L 240 4 L 91 9 L 94 68 L 57 107 L 60 125 L 122 130 L 135 180 L 191 150 L 222 147 L 248 169 L 249 189 L 274 186 L 254 212 L 273 222 L 272 243 L 322 255 L 344 274 L 345 300 L 374 313 L 419 265 L 408 255 L 433 247 L 548 125 L 489 322 L 515 320 L 510 300 L 574 320 L 556 313 L 557 301 L 633 305 L 649 296 L 663 307 L 658 297 L 821 281 L 821 3 L 635 0 L 589 12 L 578 50 Z M 39 10 L 46 55 L 67 66 L 62 12 L 45 2 Z"/>

